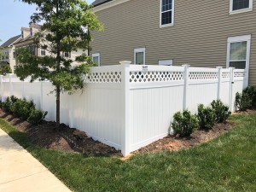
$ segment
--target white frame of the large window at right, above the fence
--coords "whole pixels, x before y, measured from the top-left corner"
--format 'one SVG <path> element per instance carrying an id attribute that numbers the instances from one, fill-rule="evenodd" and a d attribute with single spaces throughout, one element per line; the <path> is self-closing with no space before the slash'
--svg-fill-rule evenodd
<path id="1" fill-rule="evenodd" d="M 230 44 L 236 42 L 244 42 L 247 41 L 247 58 L 246 58 L 246 69 L 249 68 L 250 64 L 250 53 L 251 53 L 251 35 L 243 35 L 243 36 L 236 36 L 228 38 L 228 45 L 227 45 L 227 61 L 226 67 L 230 67 Z"/>

